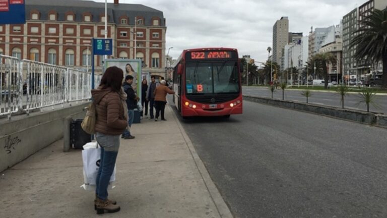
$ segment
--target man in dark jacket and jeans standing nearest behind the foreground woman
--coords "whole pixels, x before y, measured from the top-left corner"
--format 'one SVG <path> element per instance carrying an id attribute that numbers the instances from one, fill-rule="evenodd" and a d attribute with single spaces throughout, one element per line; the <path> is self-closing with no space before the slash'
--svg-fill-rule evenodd
<path id="1" fill-rule="evenodd" d="M 127 75 L 125 77 L 125 82 L 122 87 L 126 93 L 126 105 L 127 105 L 127 117 L 128 117 L 128 129 L 125 129 L 121 138 L 124 139 L 134 139 L 135 137 L 131 134 L 130 128 L 132 127 L 133 120 L 135 119 L 135 108 L 137 108 L 137 101 L 139 98 L 136 95 L 135 90 L 132 88 L 133 76 Z"/>

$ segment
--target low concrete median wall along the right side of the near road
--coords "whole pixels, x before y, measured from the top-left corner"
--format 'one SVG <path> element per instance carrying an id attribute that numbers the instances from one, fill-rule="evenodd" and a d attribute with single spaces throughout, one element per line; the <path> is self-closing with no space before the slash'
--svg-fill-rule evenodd
<path id="1" fill-rule="evenodd" d="M 343 120 L 355 121 L 363 124 L 377 124 L 377 120 L 380 120 L 380 126 L 387 127 L 387 117 L 375 113 L 368 113 L 350 109 L 343 109 L 332 106 L 324 106 L 319 104 L 311 104 L 311 103 L 303 103 L 297 101 L 290 100 L 279 100 L 279 99 L 271 99 L 266 97 L 256 97 L 251 95 L 243 95 L 244 100 L 264 103 L 269 105 L 275 105 L 285 108 L 291 108 L 298 111 L 313 113 L 313 114 L 321 114 L 333 118 L 340 118 Z M 377 117 L 380 117 L 377 119 Z M 378 125 L 378 124 L 377 124 Z"/>

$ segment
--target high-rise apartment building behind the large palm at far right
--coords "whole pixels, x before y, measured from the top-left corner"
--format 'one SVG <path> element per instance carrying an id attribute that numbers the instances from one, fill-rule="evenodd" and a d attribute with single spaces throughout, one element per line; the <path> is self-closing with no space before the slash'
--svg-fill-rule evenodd
<path id="1" fill-rule="evenodd" d="M 381 66 L 378 63 L 371 64 L 364 60 L 356 61 L 353 58 L 356 46 L 351 47 L 350 43 L 355 37 L 354 32 L 360 27 L 358 21 L 370 15 L 374 9 L 385 10 L 386 7 L 387 2 L 385 0 L 370 0 L 343 17 L 343 64 L 345 74 L 367 74 L 370 71 L 370 66 L 375 72 L 381 71 Z"/>

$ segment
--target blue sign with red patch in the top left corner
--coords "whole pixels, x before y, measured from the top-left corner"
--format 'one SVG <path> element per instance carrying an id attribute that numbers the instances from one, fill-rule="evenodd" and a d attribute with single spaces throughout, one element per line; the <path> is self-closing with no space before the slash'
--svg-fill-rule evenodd
<path id="1" fill-rule="evenodd" d="M 0 25 L 25 23 L 26 8 L 24 0 L 0 0 Z"/>

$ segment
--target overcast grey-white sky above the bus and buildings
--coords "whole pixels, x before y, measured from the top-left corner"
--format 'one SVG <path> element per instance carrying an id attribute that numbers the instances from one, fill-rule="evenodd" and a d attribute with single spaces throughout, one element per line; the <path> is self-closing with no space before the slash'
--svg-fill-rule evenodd
<path id="1" fill-rule="evenodd" d="M 95 0 L 104 2 L 104 0 Z M 268 58 L 273 46 L 273 25 L 289 17 L 289 32 L 340 23 L 343 16 L 366 0 L 120 0 L 143 4 L 164 13 L 167 25 L 166 49 L 178 58 L 181 51 L 199 47 L 237 48 L 239 56 L 255 61 Z M 108 0 L 113 3 L 113 0 Z"/>

